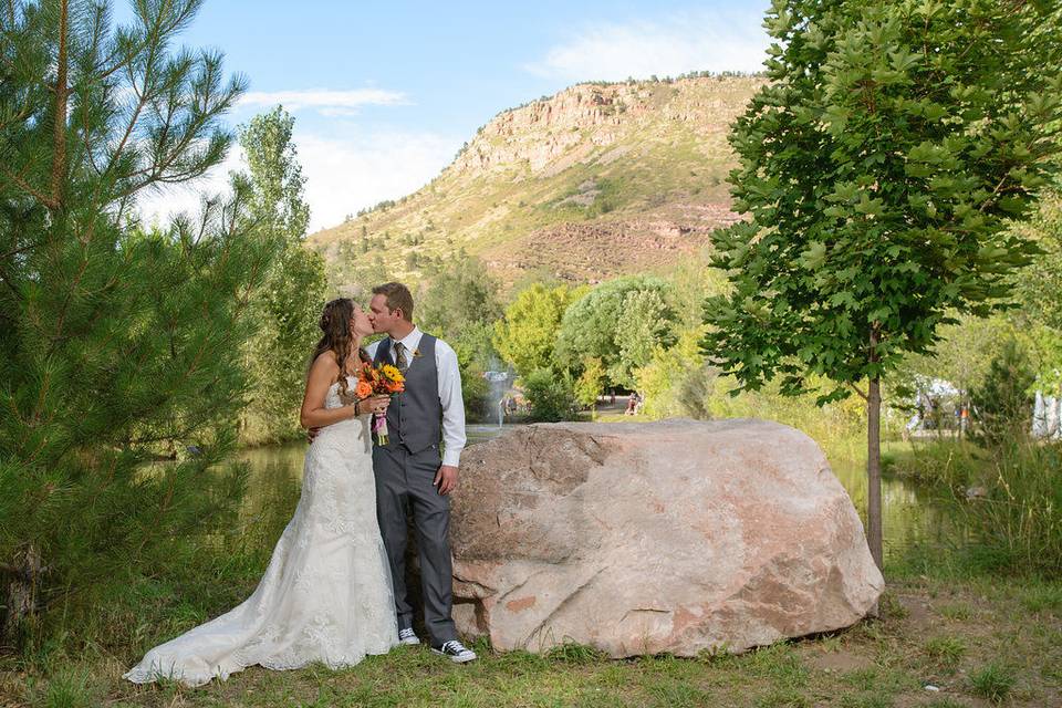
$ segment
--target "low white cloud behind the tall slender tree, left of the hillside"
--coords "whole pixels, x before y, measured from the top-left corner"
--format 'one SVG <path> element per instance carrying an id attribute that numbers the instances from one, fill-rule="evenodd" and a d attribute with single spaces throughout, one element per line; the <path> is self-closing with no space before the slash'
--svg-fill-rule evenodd
<path id="1" fill-rule="evenodd" d="M 459 139 L 434 133 L 357 132 L 354 127 L 348 133 L 356 137 L 295 128 L 311 233 L 341 223 L 347 214 L 415 191 L 438 175 L 460 146 Z M 196 215 L 202 197 L 227 192 L 229 173 L 240 169 L 247 169 L 247 164 L 243 150 L 236 146 L 204 177 L 143 195 L 137 204 L 140 215 L 148 223 L 167 223 L 180 212 Z"/>

